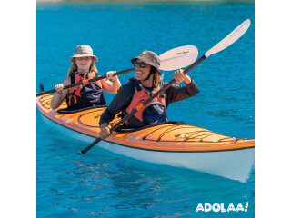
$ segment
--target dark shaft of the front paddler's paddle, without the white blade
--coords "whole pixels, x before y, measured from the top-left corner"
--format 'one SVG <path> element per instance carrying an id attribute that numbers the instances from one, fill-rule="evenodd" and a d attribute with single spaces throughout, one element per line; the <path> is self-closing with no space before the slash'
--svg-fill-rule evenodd
<path id="1" fill-rule="evenodd" d="M 186 70 L 183 72 L 183 74 L 187 74 L 190 70 L 192 70 L 194 67 L 196 67 L 197 64 L 200 64 L 201 62 L 203 62 L 206 59 L 206 56 L 203 55 L 202 57 L 200 57 L 195 63 L 191 64 L 190 66 L 188 66 L 186 68 Z M 126 114 L 120 121 L 118 121 L 117 124 L 115 124 L 114 126 L 112 126 L 110 128 L 110 134 L 115 131 L 115 129 L 117 129 L 121 124 L 124 124 L 125 121 L 127 121 L 130 117 L 132 117 L 138 110 L 140 110 L 141 108 L 145 107 L 146 104 L 149 104 L 154 98 L 157 97 L 157 95 L 162 94 L 163 92 L 166 91 L 166 89 L 168 89 L 170 86 L 172 86 L 172 84 L 175 84 L 176 80 L 173 79 L 171 80 L 168 84 L 166 84 L 163 88 L 161 88 L 160 90 L 158 90 L 155 94 L 151 95 L 148 99 L 146 99 L 145 102 L 143 102 L 143 104 L 138 105 L 135 109 L 133 109 L 129 114 Z M 82 150 L 79 154 L 85 154 L 87 151 L 89 151 L 93 146 L 95 146 L 95 144 L 98 144 L 101 141 L 101 138 L 97 138 L 95 139 L 95 141 L 92 144 L 89 144 L 84 150 Z"/>

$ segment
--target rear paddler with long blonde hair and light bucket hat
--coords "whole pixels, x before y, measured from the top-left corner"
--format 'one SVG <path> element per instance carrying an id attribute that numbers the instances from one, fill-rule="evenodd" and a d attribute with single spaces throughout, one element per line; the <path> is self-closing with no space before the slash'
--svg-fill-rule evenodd
<path id="1" fill-rule="evenodd" d="M 112 76 L 115 71 L 106 73 L 106 79 L 85 85 L 78 85 L 65 89 L 65 85 L 76 84 L 80 81 L 93 79 L 98 76 L 95 62 L 98 58 L 93 54 L 89 45 L 77 45 L 75 54 L 71 57 L 71 67 L 62 84 L 55 85 L 55 95 L 51 102 L 52 109 L 56 109 L 66 99 L 67 110 L 77 110 L 96 105 L 105 105 L 103 90 L 115 94 L 121 86 L 118 77 Z M 108 79 L 111 79 L 110 82 Z"/>

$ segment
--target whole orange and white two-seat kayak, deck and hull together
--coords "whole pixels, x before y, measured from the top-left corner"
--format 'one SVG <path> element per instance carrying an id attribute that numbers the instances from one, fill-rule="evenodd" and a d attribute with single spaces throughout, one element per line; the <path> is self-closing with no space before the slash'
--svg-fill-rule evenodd
<path id="1" fill-rule="evenodd" d="M 65 102 L 52 110 L 52 97 L 53 94 L 45 94 L 36 98 L 39 112 L 52 121 L 50 124 L 87 143 L 99 137 L 99 119 L 106 106 L 68 113 Z M 119 119 L 116 116 L 110 125 Z M 255 139 L 216 134 L 182 122 L 120 129 L 97 145 L 140 161 L 183 167 L 241 183 L 246 183 L 255 162 Z"/>

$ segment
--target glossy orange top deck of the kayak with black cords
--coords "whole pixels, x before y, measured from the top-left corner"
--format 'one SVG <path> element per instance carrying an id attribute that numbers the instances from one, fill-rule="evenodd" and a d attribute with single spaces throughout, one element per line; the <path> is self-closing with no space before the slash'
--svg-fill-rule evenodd
<path id="1" fill-rule="evenodd" d="M 37 97 L 38 110 L 48 119 L 79 133 L 99 137 L 99 120 L 106 106 L 86 109 L 72 114 L 59 114 L 52 110 L 50 102 L 53 94 Z M 58 108 L 66 108 L 65 101 Z M 117 116 L 110 123 L 114 125 L 120 120 Z M 255 139 L 241 139 L 216 134 L 196 125 L 180 122 L 152 125 L 134 132 L 115 132 L 105 141 L 138 149 L 164 152 L 219 152 L 255 147 Z"/>

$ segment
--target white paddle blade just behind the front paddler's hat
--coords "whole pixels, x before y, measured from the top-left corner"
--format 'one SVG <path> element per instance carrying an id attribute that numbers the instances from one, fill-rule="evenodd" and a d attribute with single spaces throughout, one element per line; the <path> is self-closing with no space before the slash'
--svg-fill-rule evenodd
<path id="1" fill-rule="evenodd" d="M 194 45 L 184 45 L 173 48 L 159 55 L 161 64 L 159 69 L 172 71 L 194 63 L 198 56 L 198 49 Z"/>

